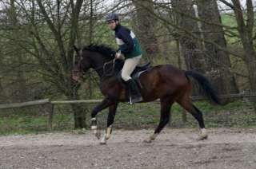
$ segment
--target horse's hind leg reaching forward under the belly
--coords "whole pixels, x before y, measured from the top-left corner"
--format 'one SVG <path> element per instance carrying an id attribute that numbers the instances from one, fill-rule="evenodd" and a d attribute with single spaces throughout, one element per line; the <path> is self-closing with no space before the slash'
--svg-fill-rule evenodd
<path id="1" fill-rule="evenodd" d="M 144 140 L 146 143 L 150 143 L 152 140 L 155 140 L 158 134 L 162 131 L 162 128 L 166 126 L 166 124 L 170 120 L 170 108 L 173 104 L 173 101 L 170 98 L 161 99 L 161 116 L 158 127 L 154 130 L 154 134 L 150 136 L 149 140 Z"/>

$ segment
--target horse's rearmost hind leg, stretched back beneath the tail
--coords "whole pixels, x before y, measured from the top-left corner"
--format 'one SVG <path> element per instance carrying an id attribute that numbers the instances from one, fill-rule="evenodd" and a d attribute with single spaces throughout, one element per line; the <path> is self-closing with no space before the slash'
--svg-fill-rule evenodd
<path id="1" fill-rule="evenodd" d="M 199 127 L 201 128 L 201 135 L 199 136 L 198 140 L 207 139 L 208 135 L 202 117 L 202 112 L 191 103 L 190 99 L 178 101 L 178 104 L 180 104 L 186 109 L 186 111 L 190 112 L 196 120 L 198 120 Z"/>

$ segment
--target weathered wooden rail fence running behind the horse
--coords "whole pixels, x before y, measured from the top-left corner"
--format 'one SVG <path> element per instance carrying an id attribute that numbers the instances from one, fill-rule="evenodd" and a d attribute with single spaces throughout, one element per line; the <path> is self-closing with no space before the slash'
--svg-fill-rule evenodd
<path id="1" fill-rule="evenodd" d="M 253 98 L 256 97 L 256 94 L 252 93 L 238 93 L 238 94 L 230 94 L 230 95 L 221 95 L 220 98 L 226 98 L 226 99 L 243 99 L 243 98 Z M 206 96 L 192 96 L 192 100 L 206 100 Z M 96 104 L 100 103 L 102 100 L 56 100 L 52 101 L 49 99 L 43 99 L 43 100 L 34 100 L 34 101 L 28 101 L 23 103 L 11 103 L 11 104 L 0 104 L 0 110 L 1 109 L 9 109 L 9 108 L 24 108 L 29 106 L 36 106 L 36 105 L 43 105 L 43 104 L 50 104 L 50 112 L 49 112 L 49 118 L 48 118 L 48 128 L 49 130 L 52 129 L 53 124 L 53 117 L 54 117 L 54 105 L 55 104 Z M 159 100 L 152 101 L 154 103 L 159 103 Z M 186 121 L 186 113 L 183 113 L 182 119 Z"/>

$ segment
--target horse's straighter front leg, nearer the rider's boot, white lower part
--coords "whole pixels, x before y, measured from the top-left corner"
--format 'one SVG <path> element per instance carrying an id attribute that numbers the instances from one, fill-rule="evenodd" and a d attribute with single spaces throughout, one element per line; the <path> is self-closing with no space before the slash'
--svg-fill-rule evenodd
<path id="1" fill-rule="evenodd" d="M 112 132 L 112 124 L 114 123 L 114 116 L 117 112 L 118 103 L 113 104 L 109 107 L 109 115 L 107 116 L 107 123 L 106 123 L 106 132 L 105 135 L 102 137 L 101 144 L 106 144 L 106 140 L 110 139 L 111 132 Z"/>

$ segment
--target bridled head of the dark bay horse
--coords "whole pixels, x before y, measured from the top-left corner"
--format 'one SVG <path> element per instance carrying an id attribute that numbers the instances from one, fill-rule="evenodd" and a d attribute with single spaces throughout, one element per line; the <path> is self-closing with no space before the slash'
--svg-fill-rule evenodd
<path id="1" fill-rule="evenodd" d="M 72 79 L 76 82 L 80 81 L 82 74 L 86 73 L 88 69 L 90 69 L 91 63 L 90 58 L 83 56 L 82 49 L 78 49 L 74 45 L 74 50 L 76 52 L 76 55 L 74 57 L 74 65 L 72 69 Z"/>

